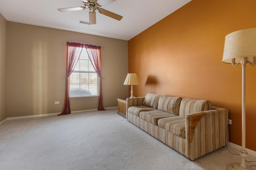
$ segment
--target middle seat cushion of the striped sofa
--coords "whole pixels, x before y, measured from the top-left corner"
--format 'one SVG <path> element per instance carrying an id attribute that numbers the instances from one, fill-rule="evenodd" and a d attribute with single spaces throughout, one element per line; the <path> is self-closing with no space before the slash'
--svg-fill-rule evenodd
<path id="1" fill-rule="evenodd" d="M 140 118 L 146 120 L 154 125 L 158 125 L 158 120 L 164 117 L 177 116 L 171 113 L 167 113 L 162 110 L 142 111 L 140 112 Z"/>

